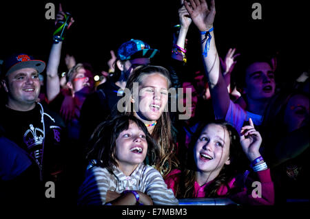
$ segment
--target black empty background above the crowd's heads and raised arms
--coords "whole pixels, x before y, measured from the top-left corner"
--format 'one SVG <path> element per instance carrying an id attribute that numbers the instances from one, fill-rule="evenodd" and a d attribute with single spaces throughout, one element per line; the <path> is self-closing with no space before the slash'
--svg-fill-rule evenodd
<path id="1" fill-rule="evenodd" d="M 65 54 L 77 62 L 90 62 L 95 72 L 107 71 L 110 50 L 137 38 L 161 51 L 158 60 L 167 60 L 172 48 L 173 26 L 178 24 L 179 0 L 132 1 L 1 1 L 0 59 L 23 51 L 48 61 L 54 21 L 45 19 L 45 4 L 51 2 L 74 16 L 63 43 Z M 254 2 L 262 5 L 262 20 L 254 20 Z M 248 51 L 278 52 L 282 78 L 296 78 L 309 71 L 309 9 L 307 1 L 216 1 L 214 32 L 220 56 L 230 47 L 243 56 Z M 189 64 L 199 68 L 199 35 L 192 23 L 188 37 Z M 241 56 L 240 56 L 241 57 Z M 157 64 L 157 63 L 156 63 Z M 160 64 L 160 63 L 159 63 Z"/>

